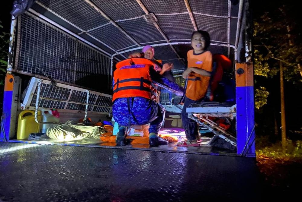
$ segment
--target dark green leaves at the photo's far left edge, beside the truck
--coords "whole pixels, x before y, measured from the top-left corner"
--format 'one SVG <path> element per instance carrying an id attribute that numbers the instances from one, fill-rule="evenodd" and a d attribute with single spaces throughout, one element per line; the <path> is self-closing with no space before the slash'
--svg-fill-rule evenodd
<path id="1" fill-rule="evenodd" d="M 3 28 L 0 21 L 0 28 Z M 0 85 L 4 84 L 4 74 L 6 72 L 7 67 L 7 59 L 8 59 L 8 44 L 9 44 L 9 34 L 2 32 L 0 33 Z"/>

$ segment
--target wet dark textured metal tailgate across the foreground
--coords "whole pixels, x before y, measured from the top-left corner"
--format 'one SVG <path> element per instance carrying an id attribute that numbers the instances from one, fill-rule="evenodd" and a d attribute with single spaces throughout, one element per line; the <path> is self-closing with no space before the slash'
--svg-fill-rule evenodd
<path id="1" fill-rule="evenodd" d="M 253 158 L 0 143 L 0 201 L 257 201 Z"/>

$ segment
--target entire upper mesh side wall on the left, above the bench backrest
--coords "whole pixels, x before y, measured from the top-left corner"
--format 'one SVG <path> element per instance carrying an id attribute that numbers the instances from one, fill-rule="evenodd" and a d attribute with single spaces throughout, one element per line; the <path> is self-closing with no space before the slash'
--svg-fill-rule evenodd
<path id="1" fill-rule="evenodd" d="M 96 90 L 99 89 L 91 82 L 94 79 L 85 77 L 102 75 L 106 85 L 102 90 L 109 89 L 108 56 L 31 14 L 21 16 L 20 27 L 16 70 L 33 76 L 47 74 L 58 81 Z"/>

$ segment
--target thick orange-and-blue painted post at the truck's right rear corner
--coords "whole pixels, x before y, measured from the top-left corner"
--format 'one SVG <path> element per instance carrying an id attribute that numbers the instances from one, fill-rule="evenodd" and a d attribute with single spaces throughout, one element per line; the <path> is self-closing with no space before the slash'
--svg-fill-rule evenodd
<path id="1" fill-rule="evenodd" d="M 254 70 L 252 63 L 236 64 L 237 154 L 255 156 Z M 243 151 L 244 149 L 247 151 Z"/>

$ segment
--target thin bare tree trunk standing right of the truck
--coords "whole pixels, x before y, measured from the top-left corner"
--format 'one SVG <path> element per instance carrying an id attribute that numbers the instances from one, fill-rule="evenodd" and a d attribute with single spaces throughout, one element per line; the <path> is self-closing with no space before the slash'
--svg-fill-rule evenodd
<path id="1" fill-rule="evenodd" d="M 282 150 L 286 152 L 286 125 L 285 125 L 285 106 L 284 106 L 284 81 L 283 81 L 283 66 L 280 61 L 280 92 L 281 92 L 281 138 Z"/>

